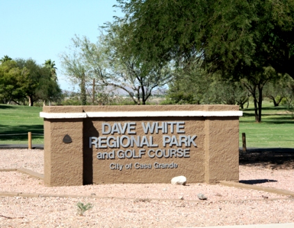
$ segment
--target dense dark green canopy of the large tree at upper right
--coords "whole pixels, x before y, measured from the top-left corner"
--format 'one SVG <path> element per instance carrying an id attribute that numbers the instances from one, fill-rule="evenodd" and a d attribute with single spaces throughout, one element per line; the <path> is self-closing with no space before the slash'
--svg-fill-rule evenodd
<path id="1" fill-rule="evenodd" d="M 263 67 L 294 78 L 294 0 L 118 0 L 131 35 L 122 49 L 138 62 L 201 60 L 236 79 Z"/>

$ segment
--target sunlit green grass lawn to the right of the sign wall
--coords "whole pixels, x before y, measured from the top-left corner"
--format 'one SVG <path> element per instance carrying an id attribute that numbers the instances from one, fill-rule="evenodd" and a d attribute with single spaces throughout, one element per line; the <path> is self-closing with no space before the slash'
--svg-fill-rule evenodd
<path id="1" fill-rule="evenodd" d="M 240 147 L 242 132 L 245 132 L 247 147 L 294 148 L 294 119 L 291 113 L 283 106 L 273 107 L 272 103 L 263 101 L 261 123 L 255 123 L 252 106 L 243 109 L 243 116 L 240 117 Z"/>

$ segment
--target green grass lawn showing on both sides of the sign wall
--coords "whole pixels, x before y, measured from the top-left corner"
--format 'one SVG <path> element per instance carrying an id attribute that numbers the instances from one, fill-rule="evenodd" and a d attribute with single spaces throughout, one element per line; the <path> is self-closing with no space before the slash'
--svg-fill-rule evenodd
<path id="1" fill-rule="evenodd" d="M 244 109 L 240 117 L 240 147 L 245 132 L 248 148 L 294 148 L 294 119 L 286 111 L 285 107 L 273 107 L 264 101 L 262 123 L 255 123 L 252 104 Z M 44 143 L 40 112 L 42 107 L 0 105 L 0 144 L 26 144 L 28 132 L 32 132 L 34 144 Z"/>

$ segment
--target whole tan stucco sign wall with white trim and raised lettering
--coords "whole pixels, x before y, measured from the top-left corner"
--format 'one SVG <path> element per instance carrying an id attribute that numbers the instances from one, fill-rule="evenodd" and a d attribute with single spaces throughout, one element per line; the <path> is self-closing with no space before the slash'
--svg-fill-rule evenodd
<path id="1" fill-rule="evenodd" d="M 238 181 L 241 115 L 236 105 L 44 107 L 44 182 Z"/>

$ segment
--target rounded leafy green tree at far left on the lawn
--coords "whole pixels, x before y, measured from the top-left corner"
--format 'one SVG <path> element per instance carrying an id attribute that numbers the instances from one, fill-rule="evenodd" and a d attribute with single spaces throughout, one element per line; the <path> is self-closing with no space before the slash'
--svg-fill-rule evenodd
<path id="1" fill-rule="evenodd" d="M 51 71 L 41 67 L 34 60 L 8 60 L 0 64 L 0 98 L 2 103 L 13 101 L 18 105 L 33 106 L 37 100 L 55 101 L 61 96 L 61 89 L 51 79 Z"/>

